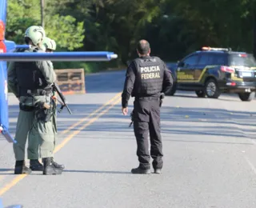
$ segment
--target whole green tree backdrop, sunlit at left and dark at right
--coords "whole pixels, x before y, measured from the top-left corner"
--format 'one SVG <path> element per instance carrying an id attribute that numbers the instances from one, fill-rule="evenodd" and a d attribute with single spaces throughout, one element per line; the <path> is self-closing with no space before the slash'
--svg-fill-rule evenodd
<path id="1" fill-rule="evenodd" d="M 6 38 L 40 24 L 40 0 L 9 0 Z M 256 0 L 45 0 L 46 34 L 58 50 L 108 50 L 111 62 L 55 62 L 86 73 L 118 68 L 137 57 L 139 39 L 151 54 L 177 61 L 202 46 L 231 47 L 256 54 Z M 61 3 L 60 3 L 61 2 Z"/>

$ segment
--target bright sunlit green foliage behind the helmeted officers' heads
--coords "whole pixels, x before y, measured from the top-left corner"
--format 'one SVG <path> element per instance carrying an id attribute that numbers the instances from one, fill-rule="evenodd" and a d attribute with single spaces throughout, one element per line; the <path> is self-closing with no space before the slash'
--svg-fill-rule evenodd
<path id="1" fill-rule="evenodd" d="M 85 30 L 83 22 L 70 15 L 61 16 L 58 11 L 45 15 L 46 36 L 53 38 L 58 50 L 74 50 L 83 46 Z M 22 44 L 27 27 L 40 25 L 39 0 L 9 0 L 7 7 L 6 38 Z"/>

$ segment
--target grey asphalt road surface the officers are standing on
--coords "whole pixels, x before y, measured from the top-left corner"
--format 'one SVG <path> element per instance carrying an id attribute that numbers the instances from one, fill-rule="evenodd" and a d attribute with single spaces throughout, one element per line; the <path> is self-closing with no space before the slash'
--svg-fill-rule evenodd
<path id="1" fill-rule="evenodd" d="M 87 93 L 67 96 L 74 114 L 63 110 L 58 115 L 55 150 L 55 160 L 66 165 L 62 175 L 14 175 L 12 146 L 0 138 L 4 207 L 256 207 L 255 101 L 241 102 L 233 94 L 197 98 L 193 92 L 166 97 L 163 173 L 134 175 L 130 169 L 138 166 L 136 142 L 118 94 L 124 75 L 88 75 Z M 17 104 L 10 95 L 12 134 Z M 132 104 L 131 99 L 130 111 Z"/>

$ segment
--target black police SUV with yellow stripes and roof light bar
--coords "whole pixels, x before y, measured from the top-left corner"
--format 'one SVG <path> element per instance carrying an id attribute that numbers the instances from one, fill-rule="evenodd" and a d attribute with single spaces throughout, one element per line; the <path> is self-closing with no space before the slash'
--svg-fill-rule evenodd
<path id="1" fill-rule="evenodd" d="M 193 90 L 199 98 L 218 98 L 222 92 L 237 93 L 251 101 L 256 91 L 256 61 L 252 54 L 226 48 L 202 47 L 170 67 L 176 90 Z"/>

